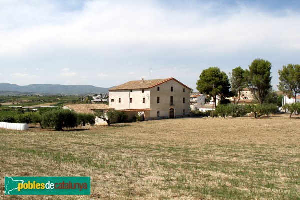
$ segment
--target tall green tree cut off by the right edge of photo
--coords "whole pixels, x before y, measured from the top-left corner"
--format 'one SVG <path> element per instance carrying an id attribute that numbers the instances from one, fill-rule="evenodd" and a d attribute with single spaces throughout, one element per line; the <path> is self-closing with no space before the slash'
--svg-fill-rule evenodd
<path id="1" fill-rule="evenodd" d="M 300 93 L 300 65 L 299 64 L 288 64 L 283 65 L 282 70 L 279 73 L 279 89 L 285 91 L 295 98 L 297 102 L 297 93 Z"/>

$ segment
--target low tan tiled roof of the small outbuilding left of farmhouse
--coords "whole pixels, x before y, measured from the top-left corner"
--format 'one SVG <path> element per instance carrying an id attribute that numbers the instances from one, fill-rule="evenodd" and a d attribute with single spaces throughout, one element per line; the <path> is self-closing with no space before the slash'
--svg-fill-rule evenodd
<path id="1" fill-rule="evenodd" d="M 70 105 L 64 105 L 72 110 L 74 110 L 75 112 L 78 113 L 91 113 L 93 114 L 93 110 L 107 110 L 107 109 L 114 109 L 106 104 L 70 104 Z"/>

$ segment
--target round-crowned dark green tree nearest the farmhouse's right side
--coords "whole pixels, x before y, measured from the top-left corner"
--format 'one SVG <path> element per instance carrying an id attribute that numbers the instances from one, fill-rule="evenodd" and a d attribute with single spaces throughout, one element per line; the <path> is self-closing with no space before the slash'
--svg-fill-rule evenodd
<path id="1" fill-rule="evenodd" d="M 210 67 L 202 71 L 200 79 L 197 81 L 197 90 L 212 96 L 215 107 L 216 95 L 220 95 L 221 99 L 225 99 L 231 94 L 228 76 L 225 72 L 220 71 L 218 67 Z"/>

